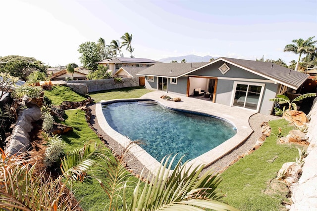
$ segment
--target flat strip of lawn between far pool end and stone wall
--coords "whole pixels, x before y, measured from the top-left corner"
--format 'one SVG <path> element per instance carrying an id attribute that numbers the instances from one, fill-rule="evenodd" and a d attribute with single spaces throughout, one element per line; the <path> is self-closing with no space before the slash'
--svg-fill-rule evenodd
<path id="1" fill-rule="evenodd" d="M 112 99 L 124 99 L 124 98 L 139 98 L 142 95 L 149 93 L 153 90 L 139 87 L 126 87 L 126 88 L 116 88 L 105 91 L 91 92 L 89 95 L 95 102 L 100 102 L 101 100 L 112 100 Z"/>

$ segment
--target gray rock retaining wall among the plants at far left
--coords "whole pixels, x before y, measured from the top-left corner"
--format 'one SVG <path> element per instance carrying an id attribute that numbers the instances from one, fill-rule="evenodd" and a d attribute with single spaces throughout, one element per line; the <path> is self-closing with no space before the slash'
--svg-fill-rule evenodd
<path id="1" fill-rule="evenodd" d="M 5 154 L 14 155 L 30 148 L 29 132 L 33 128 L 32 122 L 40 120 L 41 116 L 41 109 L 38 107 L 27 108 L 23 111 L 11 136 L 7 138 Z"/>

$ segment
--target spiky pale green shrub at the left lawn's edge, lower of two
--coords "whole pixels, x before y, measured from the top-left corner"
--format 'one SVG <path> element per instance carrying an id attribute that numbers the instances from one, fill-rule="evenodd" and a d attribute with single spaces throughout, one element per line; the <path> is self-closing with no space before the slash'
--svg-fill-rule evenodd
<path id="1" fill-rule="evenodd" d="M 44 164 L 46 167 L 52 167 L 55 163 L 57 163 L 60 158 L 62 158 L 65 154 L 63 152 L 63 147 L 65 143 L 60 136 L 54 135 L 53 137 L 49 137 L 49 147 L 45 150 L 45 158 Z"/>

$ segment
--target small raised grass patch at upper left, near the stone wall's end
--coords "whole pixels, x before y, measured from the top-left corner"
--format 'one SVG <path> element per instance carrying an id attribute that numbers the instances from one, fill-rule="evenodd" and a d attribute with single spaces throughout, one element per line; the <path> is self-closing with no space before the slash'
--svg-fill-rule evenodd
<path id="1" fill-rule="evenodd" d="M 82 101 L 87 97 L 77 94 L 71 88 L 62 85 L 52 86 L 52 90 L 45 90 L 44 95 L 52 100 L 52 104 L 60 105 L 63 101 Z"/>

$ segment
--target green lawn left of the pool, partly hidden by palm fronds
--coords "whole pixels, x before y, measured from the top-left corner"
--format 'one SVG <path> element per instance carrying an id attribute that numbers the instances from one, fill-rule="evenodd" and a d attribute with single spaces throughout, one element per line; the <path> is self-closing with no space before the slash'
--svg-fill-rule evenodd
<path id="1" fill-rule="evenodd" d="M 112 157 L 111 152 L 106 148 L 103 142 L 98 138 L 97 134 L 88 126 L 85 121 L 85 112 L 79 109 L 72 109 L 65 111 L 66 118 L 62 122 L 65 125 L 73 127 L 72 132 L 62 135 L 66 142 L 64 148 L 65 153 L 72 152 L 74 149 L 81 148 L 85 143 L 90 141 L 97 142 L 98 145 L 106 149 L 106 156 Z M 109 199 L 102 189 L 100 183 L 94 178 L 97 177 L 107 183 L 108 175 L 105 170 L 106 161 L 99 161 L 98 165 L 93 167 L 83 182 L 75 182 L 72 189 L 75 192 L 75 197 L 80 201 L 80 206 L 84 211 L 102 211 L 109 203 Z M 128 174 L 128 171 L 126 172 Z M 136 177 L 130 178 L 131 182 L 137 182 Z M 131 185 L 127 192 L 127 198 L 131 199 L 133 194 L 133 185 Z"/>

